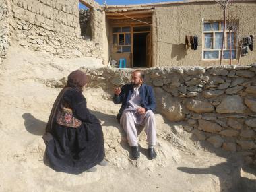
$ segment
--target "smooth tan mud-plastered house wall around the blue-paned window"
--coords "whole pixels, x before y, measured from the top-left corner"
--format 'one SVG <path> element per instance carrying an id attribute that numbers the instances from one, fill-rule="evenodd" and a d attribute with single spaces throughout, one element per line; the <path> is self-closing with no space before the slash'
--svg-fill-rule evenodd
<path id="1" fill-rule="evenodd" d="M 154 66 L 218 65 L 219 60 L 203 60 L 203 22 L 224 20 L 220 5 L 215 2 L 188 2 L 154 5 Z M 236 1 L 228 7 L 228 17 L 238 21 L 239 38 L 255 35 L 255 1 Z M 197 50 L 185 49 L 185 36 L 198 36 Z M 191 61 L 193 61 L 191 63 Z M 256 61 L 256 51 L 249 51 L 241 64 Z M 234 59 L 233 64 L 238 63 Z M 228 60 L 224 59 L 224 64 Z"/>

